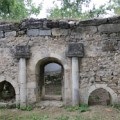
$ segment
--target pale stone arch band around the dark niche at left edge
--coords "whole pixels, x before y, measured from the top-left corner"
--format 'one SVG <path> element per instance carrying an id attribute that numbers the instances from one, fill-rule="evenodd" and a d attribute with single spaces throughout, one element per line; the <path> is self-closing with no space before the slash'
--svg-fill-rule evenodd
<path id="1" fill-rule="evenodd" d="M 3 82 L 3 81 L 7 81 L 9 82 L 13 88 L 15 89 L 15 101 L 16 101 L 16 104 L 19 104 L 19 86 L 18 84 L 12 80 L 11 77 L 9 76 L 0 76 L 0 82 Z"/>

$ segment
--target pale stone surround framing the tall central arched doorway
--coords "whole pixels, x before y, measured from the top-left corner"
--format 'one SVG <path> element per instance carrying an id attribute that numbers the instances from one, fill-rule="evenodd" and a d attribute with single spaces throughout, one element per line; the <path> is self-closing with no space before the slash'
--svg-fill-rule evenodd
<path id="1" fill-rule="evenodd" d="M 63 65 L 64 68 L 64 94 L 63 94 L 63 103 L 64 104 L 71 104 L 71 61 L 66 59 L 65 54 L 57 54 L 57 53 L 45 53 L 41 54 L 41 52 L 36 51 L 37 54 L 33 54 L 31 59 L 29 60 L 29 69 L 32 72 L 35 80 L 35 102 L 37 102 L 39 99 L 37 98 L 37 82 L 36 82 L 36 74 L 37 74 L 37 68 L 38 68 L 38 63 L 40 60 L 47 58 L 47 57 L 52 57 L 58 59 L 61 64 Z M 39 101 L 38 101 L 39 102 Z"/>

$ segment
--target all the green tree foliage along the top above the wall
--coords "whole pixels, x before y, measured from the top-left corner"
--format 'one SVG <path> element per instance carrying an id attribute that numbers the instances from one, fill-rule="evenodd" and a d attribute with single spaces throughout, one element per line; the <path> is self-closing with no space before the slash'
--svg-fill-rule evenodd
<path id="1" fill-rule="evenodd" d="M 43 0 L 44 1 L 44 0 Z M 120 0 L 109 0 L 108 3 L 96 6 L 92 0 L 61 0 L 61 5 L 55 4 L 48 10 L 48 18 L 52 19 L 90 19 L 104 17 L 108 13 L 120 15 Z M 17 20 L 38 15 L 42 4 L 36 6 L 33 0 L 1 0 L 0 20 Z"/>

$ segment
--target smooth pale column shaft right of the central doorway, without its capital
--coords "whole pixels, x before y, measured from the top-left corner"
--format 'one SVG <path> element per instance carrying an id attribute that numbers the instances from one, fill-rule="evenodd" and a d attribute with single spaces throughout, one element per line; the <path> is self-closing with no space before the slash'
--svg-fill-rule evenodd
<path id="1" fill-rule="evenodd" d="M 72 105 L 79 105 L 79 64 L 78 57 L 72 57 Z"/>

